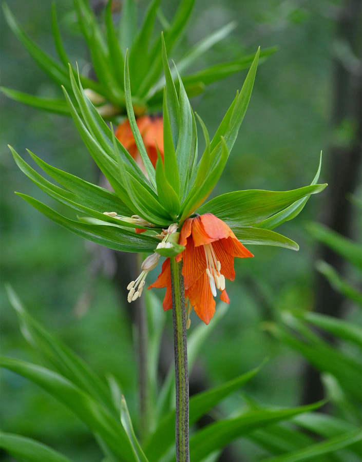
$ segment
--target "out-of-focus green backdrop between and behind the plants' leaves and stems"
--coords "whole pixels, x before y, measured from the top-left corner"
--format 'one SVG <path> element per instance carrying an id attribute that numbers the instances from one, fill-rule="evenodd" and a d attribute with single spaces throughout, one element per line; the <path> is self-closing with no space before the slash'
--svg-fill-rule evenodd
<path id="1" fill-rule="evenodd" d="M 196 2 L 186 36 L 170 58 L 177 60 L 190 45 L 230 21 L 237 21 L 235 31 L 205 54 L 197 68 L 255 52 L 259 45 L 279 47 L 258 69 L 238 140 L 214 195 L 237 189 L 283 190 L 307 185 L 317 170 L 320 150 L 323 150 L 323 166 L 319 182 L 328 182 L 329 190 L 337 187 L 333 179 L 339 169 L 344 169 L 348 157 L 340 156 L 340 163 L 336 163 L 333 153 L 335 149 L 348 152 L 357 137 L 358 126 L 353 117 L 338 119 L 338 110 L 343 110 L 343 105 L 338 109 L 338 98 L 343 98 L 337 85 L 338 60 L 341 55 L 348 55 L 348 50 L 342 48 L 348 45 L 348 37 L 340 35 L 339 20 L 348 11 L 349 3 Z M 51 3 L 9 0 L 8 5 L 36 43 L 55 55 Z M 146 5 L 147 2 L 140 2 L 141 11 Z M 174 10 L 173 2 L 165 1 L 162 5 L 169 17 Z M 72 62 L 87 66 L 87 51 L 75 25 L 71 0 L 57 0 L 56 6 Z M 2 85 L 42 96 L 61 95 L 61 90 L 54 88 L 17 42 L 3 16 L 0 25 Z M 358 59 L 350 56 L 352 64 L 353 58 Z M 245 75 L 246 72 L 231 76 L 192 101 L 193 109 L 211 134 Z M 347 80 L 346 85 L 351 82 Z M 97 168 L 70 118 L 40 112 L 0 96 L 2 352 L 37 361 L 20 334 L 16 315 L 3 291 L 4 281 L 8 281 L 35 318 L 99 374 L 111 372 L 119 379 L 131 413 L 136 416 L 137 362 L 132 346 L 131 307 L 113 280 L 117 262 L 111 252 L 100 251 L 96 245 L 57 227 L 13 194 L 13 191 L 25 192 L 62 211 L 60 204 L 26 179 L 6 145 L 12 145 L 22 156 L 27 156 L 25 149 L 29 148 L 51 165 L 91 182 L 99 181 Z M 359 167 L 352 163 L 350 168 L 355 171 Z M 355 181 L 346 188 L 341 199 L 345 209 L 350 209 L 345 234 L 356 238 L 360 220 L 355 218 L 355 209 L 346 194 L 358 194 L 360 189 L 355 190 Z M 231 305 L 190 377 L 192 391 L 232 379 L 268 357 L 269 362 L 243 392 L 268 405 L 294 406 L 302 402 L 306 395 L 305 363 L 301 356 L 272 338 L 264 326 L 265 321 L 275 319 L 276 313 L 284 308 L 314 310 L 316 307 L 318 284 L 314 262 L 318 249 L 305 223 L 310 220 L 328 223 L 335 205 L 329 195 L 332 193 L 323 191 L 312 197 L 302 214 L 280 229 L 299 243 L 298 253 L 277 247 L 249 246 L 255 258 L 235 262 L 236 280 L 227 283 Z M 129 264 L 129 259 L 124 262 Z M 148 281 L 153 281 L 159 271 L 160 267 L 156 268 Z M 128 279 L 121 281 L 124 287 L 128 282 Z M 156 292 L 161 300 L 162 291 Z M 345 308 L 344 315 L 358 321 L 353 306 Z M 161 373 L 173 355 L 172 314 L 167 312 L 165 316 Z M 198 322 L 192 314 L 191 329 Z M 241 403 L 241 393 L 236 394 L 218 412 L 224 415 Z M 33 383 L 8 371 L 2 373 L 2 414 L 2 428 L 6 431 L 39 439 L 76 460 L 101 459 L 98 447 L 77 418 Z M 240 457 L 257 460 L 263 455 L 247 440 L 236 442 L 230 451 L 235 460 L 241 460 Z"/>

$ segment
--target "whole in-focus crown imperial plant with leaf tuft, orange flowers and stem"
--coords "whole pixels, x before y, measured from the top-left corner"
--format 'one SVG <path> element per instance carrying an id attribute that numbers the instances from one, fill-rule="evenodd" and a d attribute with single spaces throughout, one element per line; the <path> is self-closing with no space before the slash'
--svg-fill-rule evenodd
<path id="1" fill-rule="evenodd" d="M 186 461 L 189 460 L 186 327 L 190 324 L 192 308 L 208 324 L 215 312 L 217 290 L 221 300 L 230 302 L 225 279 L 232 281 L 235 277 L 234 257 L 253 256 L 244 245 L 276 245 L 297 250 L 295 242 L 275 233 L 273 228 L 298 215 L 310 195 L 326 185 L 316 184 L 319 165 L 309 186 L 291 191 L 233 191 L 205 202 L 222 174 L 249 104 L 259 50 L 241 91 L 237 92 L 210 140 L 204 123 L 198 115 L 195 117 L 190 107 L 181 78 L 177 90 L 173 79 L 177 70 L 169 68 L 163 37 L 161 43 L 165 74 L 163 140 L 155 143 L 153 155 L 147 152 L 142 139 L 144 127 L 135 118 L 128 53 L 124 60 L 123 91 L 135 144 L 122 145 L 88 99 L 82 79 L 79 76 L 77 79 L 70 68 L 72 94 L 64 88 L 68 110 L 112 190 L 52 167 L 29 151 L 36 164 L 62 187 L 56 186 L 30 167 L 14 149 L 11 151 L 23 172 L 49 196 L 77 213 L 79 220 L 64 217 L 38 200 L 19 194 L 45 216 L 81 237 L 117 251 L 150 254 L 140 268 L 139 278 L 125 281 L 129 302 L 142 295 L 148 272 L 160 258 L 165 258 L 161 274 L 149 288 L 166 287 L 163 308 L 173 311 L 176 459 Z M 197 120 L 205 144 L 201 156 L 198 155 Z M 142 168 L 132 157 L 136 152 Z M 137 439 L 132 435 L 132 444 L 140 454 L 142 450 L 137 449 Z M 137 460 L 146 458 L 143 455 Z"/>

